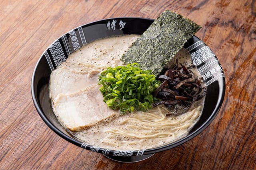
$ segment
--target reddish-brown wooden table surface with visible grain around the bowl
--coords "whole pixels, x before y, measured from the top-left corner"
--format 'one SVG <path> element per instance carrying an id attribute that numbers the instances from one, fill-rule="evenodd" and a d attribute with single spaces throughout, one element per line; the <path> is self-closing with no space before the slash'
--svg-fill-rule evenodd
<path id="1" fill-rule="evenodd" d="M 1 0 L 0 169 L 256 169 L 255 0 Z M 142 162 L 109 160 L 68 143 L 42 121 L 30 93 L 35 64 L 67 31 L 111 17 L 190 18 L 226 76 L 224 103 L 194 139 Z"/>

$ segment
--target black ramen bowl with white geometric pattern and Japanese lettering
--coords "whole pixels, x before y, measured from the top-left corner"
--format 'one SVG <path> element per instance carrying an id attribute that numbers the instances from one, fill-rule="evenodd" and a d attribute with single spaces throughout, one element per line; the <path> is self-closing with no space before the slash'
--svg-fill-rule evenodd
<path id="1" fill-rule="evenodd" d="M 110 18 L 95 21 L 72 29 L 54 41 L 44 51 L 32 75 L 31 93 L 36 110 L 52 131 L 78 147 L 104 154 L 112 160 L 119 162 L 138 162 L 149 158 L 156 152 L 172 149 L 189 141 L 201 133 L 212 122 L 224 100 L 225 77 L 216 55 L 196 36 L 188 40 L 184 48 L 190 53 L 193 64 L 202 74 L 207 86 L 207 92 L 202 115 L 187 136 L 182 137 L 178 141 L 152 149 L 147 149 L 148 146 L 145 146 L 144 149 L 142 148 L 140 150 L 111 150 L 93 146 L 72 137 L 56 119 L 49 97 L 51 72 L 58 68 L 70 54 L 80 49 L 86 43 L 113 35 L 142 34 L 153 21 L 148 18 Z"/>

